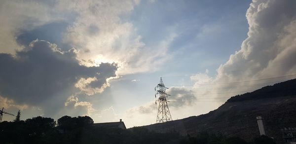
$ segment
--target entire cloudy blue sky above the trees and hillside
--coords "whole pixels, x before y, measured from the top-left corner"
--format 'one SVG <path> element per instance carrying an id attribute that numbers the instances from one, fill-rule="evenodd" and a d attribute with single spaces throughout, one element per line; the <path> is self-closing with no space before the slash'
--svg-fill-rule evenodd
<path id="1" fill-rule="evenodd" d="M 296 78 L 295 0 L 2 0 L 0 19 L 0 107 L 22 120 L 142 126 L 160 77 L 173 120 Z"/>

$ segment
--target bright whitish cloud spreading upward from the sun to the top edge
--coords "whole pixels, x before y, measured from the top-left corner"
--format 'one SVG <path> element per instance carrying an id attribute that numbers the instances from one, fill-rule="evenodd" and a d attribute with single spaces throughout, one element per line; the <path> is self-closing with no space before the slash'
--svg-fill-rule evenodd
<path id="1" fill-rule="evenodd" d="M 133 25 L 120 18 L 130 13 L 138 3 L 137 0 L 59 1 L 58 9 L 78 15 L 74 24 L 68 27 L 64 41 L 81 49 L 78 57 L 86 62 L 117 63 L 119 74 L 156 70 L 169 58 L 167 49 L 176 34 L 167 36 L 156 45 L 146 46 Z"/>

